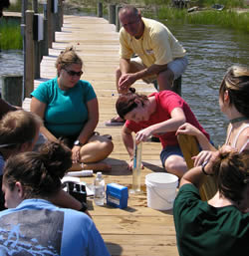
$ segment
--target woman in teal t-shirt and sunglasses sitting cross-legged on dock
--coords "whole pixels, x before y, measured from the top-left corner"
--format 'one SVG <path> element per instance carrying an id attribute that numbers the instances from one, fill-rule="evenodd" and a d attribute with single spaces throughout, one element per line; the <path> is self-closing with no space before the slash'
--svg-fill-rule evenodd
<path id="1" fill-rule="evenodd" d="M 72 170 L 85 167 L 109 169 L 100 162 L 114 148 L 113 142 L 96 134 L 99 105 L 92 85 L 80 80 L 83 62 L 72 47 L 56 61 L 58 77 L 42 83 L 32 94 L 31 112 L 44 120 L 41 132 L 49 140 L 64 138 L 72 148 Z M 95 163 L 95 164 L 89 164 Z"/>

